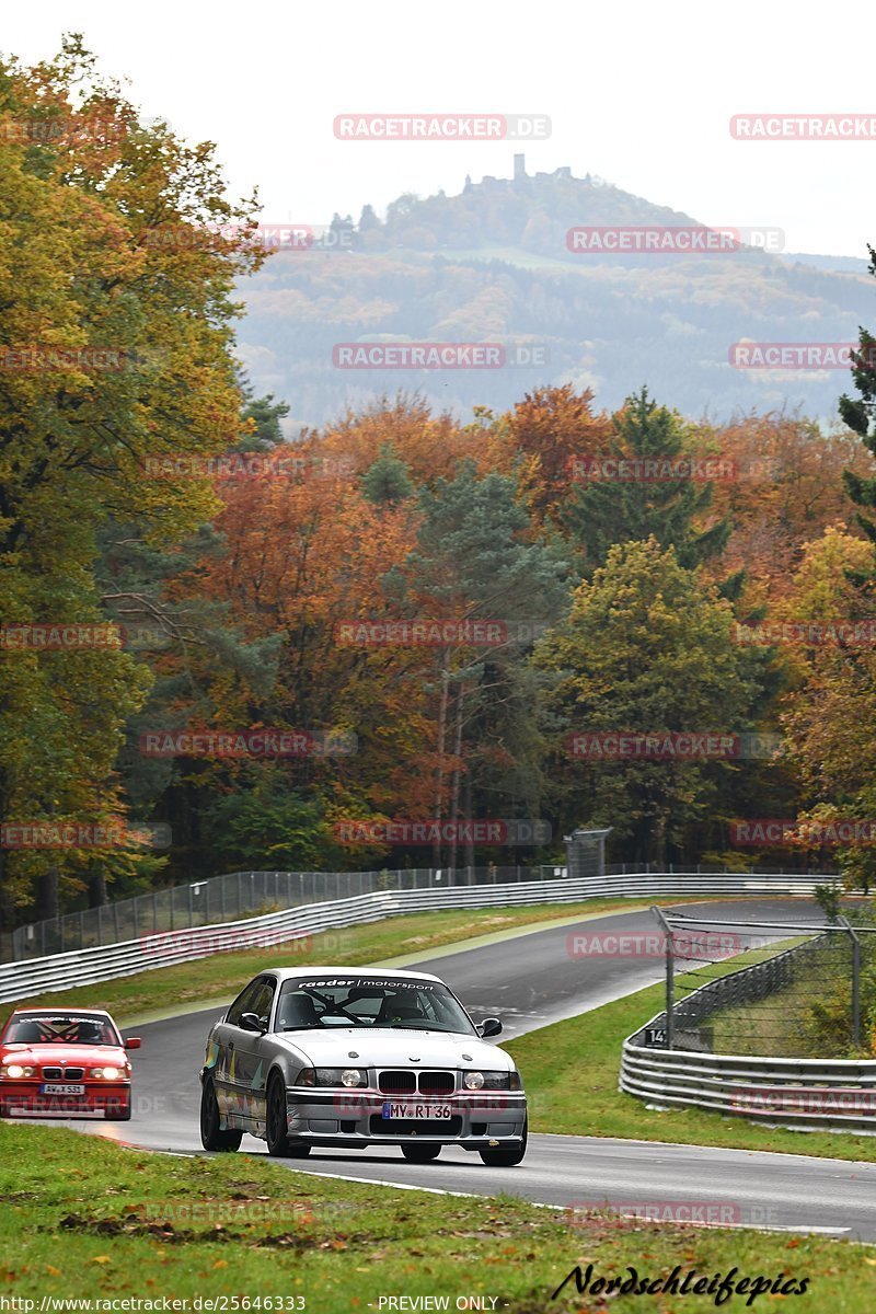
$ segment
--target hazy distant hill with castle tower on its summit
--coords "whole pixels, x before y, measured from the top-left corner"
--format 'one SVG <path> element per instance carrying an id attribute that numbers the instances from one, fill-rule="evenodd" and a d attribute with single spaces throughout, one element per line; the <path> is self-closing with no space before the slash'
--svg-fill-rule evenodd
<path id="1" fill-rule="evenodd" d="M 691 417 L 797 407 L 833 417 L 842 372 L 738 369 L 729 352 L 745 339 L 855 342 L 871 304 L 864 261 L 796 259 L 745 243 L 692 255 L 567 246 L 579 226 L 696 223 L 567 168 L 466 180 L 458 196 L 403 194 L 385 218 L 365 205 L 357 219 L 336 214 L 309 247 L 278 246 L 240 288 L 242 356 L 259 390 L 290 399 L 290 435 L 399 386 L 460 419 L 566 382 L 620 406 L 633 364 L 638 381 Z M 486 371 L 335 367 L 336 343 L 372 339 L 495 342 L 537 355 Z"/>

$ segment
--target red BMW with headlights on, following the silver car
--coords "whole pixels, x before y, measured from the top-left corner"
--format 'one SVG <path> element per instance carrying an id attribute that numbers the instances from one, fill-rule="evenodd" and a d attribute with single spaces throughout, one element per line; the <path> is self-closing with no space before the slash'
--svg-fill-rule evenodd
<path id="1" fill-rule="evenodd" d="M 102 1113 L 131 1116 L 131 1064 L 123 1041 L 102 1009 L 16 1009 L 0 1033 L 0 1117 Z"/>

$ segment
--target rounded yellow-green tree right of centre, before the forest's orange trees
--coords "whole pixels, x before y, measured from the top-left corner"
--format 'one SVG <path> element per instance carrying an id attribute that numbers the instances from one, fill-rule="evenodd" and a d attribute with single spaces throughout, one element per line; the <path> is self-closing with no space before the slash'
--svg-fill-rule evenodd
<path id="1" fill-rule="evenodd" d="M 745 762 L 575 758 L 590 731 L 722 732 L 753 728 L 758 687 L 733 640 L 733 612 L 713 586 L 655 537 L 616 544 L 574 594 L 566 622 L 537 646 L 563 825 L 613 827 L 637 862 L 665 862 L 708 820 L 722 777 Z"/>

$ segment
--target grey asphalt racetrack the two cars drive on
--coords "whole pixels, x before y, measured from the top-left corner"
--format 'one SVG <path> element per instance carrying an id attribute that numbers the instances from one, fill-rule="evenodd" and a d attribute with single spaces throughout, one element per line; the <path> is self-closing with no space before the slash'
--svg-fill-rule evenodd
<path id="1" fill-rule="evenodd" d="M 818 907 L 805 899 L 728 899 L 692 905 L 688 916 L 753 921 L 821 922 Z M 588 917 L 587 936 L 654 936 L 646 911 Z M 524 1031 L 596 1008 L 662 980 L 658 957 L 574 957 L 567 937 L 574 925 L 525 928 L 524 934 L 460 953 L 444 950 L 433 961 L 418 955 L 418 971 L 433 971 L 477 1018 L 498 1016 L 498 1043 Z M 753 932 L 762 942 L 779 932 Z M 231 997 L 231 995 L 230 995 Z M 67 1125 L 116 1141 L 176 1154 L 202 1152 L 198 1137 L 198 1070 L 206 1034 L 222 1009 L 215 1005 L 163 1021 L 129 1028 L 143 1047 L 134 1054 L 135 1110 L 127 1123 L 70 1121 Z M 646 1021 L 646 1018 L 642 1018 Z M 617 1037 L 619 1054 L 623 1037 Z M 525 1079 L 525 1072 L 524 1072 Z M 58 1120 L 54 1120 L 55 1122 Z M 243 1150 L 267 1152 L 264 1142 L 244 1135 Z M 801 1134 L 801 1151 L 805 1135 Z M 876 1151 L 876 1139 L 873 1141 Z M 278 1160 L 282 1162 L 282 1160 Z M 286 1160 L 296 1171 L 473 1194 L 507 1192 L 567 1209 L 604 1208 L 640 1213 L 687 1205 L 696 1219 L 724 1225 L 825 1231 L 876 1242 L 876 1162 L 855 1163 L 800 1155 L 721 1150 L 661 1142 L 536 1134 L 523 1164 L 487 1168 L 479 1156 L 445 1148 L 433 1163 L 411 1164 L 395 1147 L 314 1150 Z"/>

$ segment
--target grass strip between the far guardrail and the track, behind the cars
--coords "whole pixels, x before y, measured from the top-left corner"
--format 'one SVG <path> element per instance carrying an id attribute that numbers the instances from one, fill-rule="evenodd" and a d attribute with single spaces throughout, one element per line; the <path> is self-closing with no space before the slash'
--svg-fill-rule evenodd
<path id="1" fill-rule="evenodd" d="M 666 900 L 674 904 L 683 899 Z M 687 900 L 688 903 L 691 900 Z M 705 903 L 696 899 L 696 903 Z M 0 1024 L 7 1020 L 13 1008 L 33 1008 L 41 1004 L 79 1004 L 81 1008 L 108 1008 L 116 1020 L 125 1026 L 127 1018 L 150 1013 L 155 1009 L 172 1008 L 179 1004 L 192 1004 L 215 999 L 231 1000 L 251 976 L 272 963 L 289 964 L 345 964 L 360 967 L 380 962 L 383 958 L 401 958 L 426 949 L 437 949 L 458 940 L 475 936 L 489 936 L 533 922 L 550 921 L 557 917 L 586 916 L 596 912 L 630 912 L 641 903 L 623 899 L 591 899 L 586 903 L 538 904 L 531 908 L 483 908 L 453 909 L 448 912 L 408 913 L 403 917 L 390 917 L 364 926 L 347 926 L 324 932 L 306 940 L 276 945 L 269 949 L 243 949 L 232 954 L 213 954 L 176 967 L 159 967 L 154 971 L 137 972 L 118 980 L 97 986 L 81 986 L 76 989 L 37 995 L 33 999 L 16 1000 L 14 1004 L 0 1004 Z M 185 932 L 180 930 L 180 936 Z M 147 950 L 143 951 L 147 961 Z"/>

